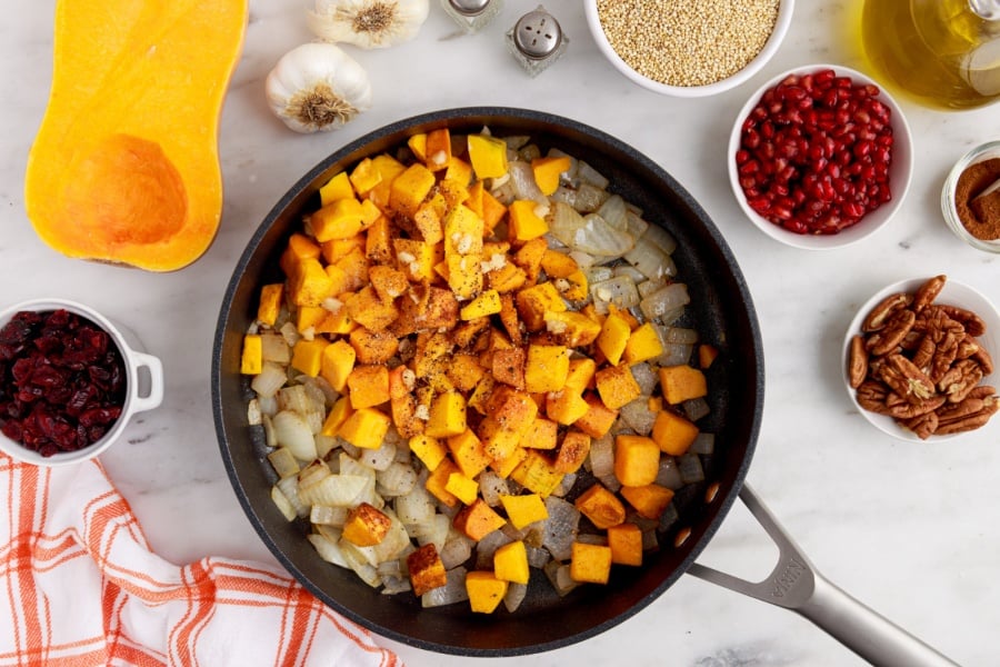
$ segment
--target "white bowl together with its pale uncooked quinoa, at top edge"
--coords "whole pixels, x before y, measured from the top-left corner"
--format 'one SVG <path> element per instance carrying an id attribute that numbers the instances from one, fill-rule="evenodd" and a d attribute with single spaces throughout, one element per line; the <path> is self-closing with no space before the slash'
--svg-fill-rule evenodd
<path id="1" fill-rule="evenodd" d="M 793 0 L 587 0 L 598 48 L 634 83 L 673 97 L 739 86 L 778 51 Z"/>

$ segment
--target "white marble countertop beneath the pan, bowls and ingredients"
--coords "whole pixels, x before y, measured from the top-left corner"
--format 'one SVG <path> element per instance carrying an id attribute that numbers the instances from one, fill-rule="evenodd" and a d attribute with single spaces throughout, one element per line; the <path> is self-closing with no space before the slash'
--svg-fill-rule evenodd
<path id="1" fill-rule="evenodd" d="M 508 0 L 500 19 L 473 37 L 457 37 L 434 1 L 412 42 L 352 51 L 372 79 L 368 113 L 339 132 L 297 136 L 270 116 L 263 78 L 281 53 L 309 39 L 303 2 L 251 0 L 246 49 L 221 120 L 222 228 L 203 258 L 170 275 L 70 260 L 34 235 L 24 215 L 23 171 L 48 94 L 52 3 L 24 3 L 0 26 L 0 301 L 47 295 L 86 301 L 133 329 L 164 361 L 163 406 L 136 420 L 128 441 L 103 457 L 160 554 L 178 563 L 206 555 L 273 560 L 218 454 L 209 364 L 232 268 L 281 193 L 322 157 L 389 121 L 456 106 L 529 107 L 593 125 L 646 152 L 690 190 L 731 245 L 756 300 L 767 359 L 764 420 L 748 480 L 817 567 L 956 661 L 997 664 L 1000 427 L 951 444 L 891 439 L 852 409 L 839 357 L 854 309 L 888 282 L 944 272 L 1000 302 L 997 261 L 958 241 L 937 206 L 954 159 L 1000 137 L 997 107 L 946 113 L 903 100 L 917 172 L 902 210 L 861 246 L 812 253 L 778 245 L 743 218 L 729 190 L 724 147 L 744 97 L 774 73 L 811 62 L 864 69 L 852 36 L 854 2 L 800 0 L 788 39 L 762 72 L 717 98 L 680 100 L 640 89 L 604 62 L 577 0 L 548 0 L 571 42 L 537 79 L 518 69 L 502 42 L 533 0 Z M 761 577 L 773 551 L 737 506 L 701 560 Z M 413 666 L 469 663 L 388 644 Z M 862 664 L 796 614 L 690 576 L 597 638 L 490 664 L 612 663 Z"/>

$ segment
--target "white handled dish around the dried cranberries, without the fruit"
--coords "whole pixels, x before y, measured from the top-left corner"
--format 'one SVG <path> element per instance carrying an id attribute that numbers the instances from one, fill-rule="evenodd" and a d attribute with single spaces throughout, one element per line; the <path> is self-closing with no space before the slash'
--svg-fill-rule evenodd
<path id="1" fill-rule="evenodd" d="M 91 459 L 108 449 L 121 436 L 129 419 L 146 410 L 151 410 L 163 400 L 163 366 L 160 359 L 144 352 L 137 351 L 126 339 L 123 329 L 109 321 L 92 308 L 64 299 L 37 299 L 24 301 L 7 308 L 0 312 L 0 327 L 7 325 L 10 319 L 20 311 L 33 310 L 39 312 L 64 309 L 83 318 L 87 318 L 108 332 L 111 340 L 121 352 L 126 370 L 126 397 L 121 415 L 104 434 L 104 436 L 88 447 L 77 451 L 63 451 L 52 456 L 41 456 L 37 451 L 16 442 L 0 434 L 0 451 L 21 461 L 39 466 L 60 466 Z"/>

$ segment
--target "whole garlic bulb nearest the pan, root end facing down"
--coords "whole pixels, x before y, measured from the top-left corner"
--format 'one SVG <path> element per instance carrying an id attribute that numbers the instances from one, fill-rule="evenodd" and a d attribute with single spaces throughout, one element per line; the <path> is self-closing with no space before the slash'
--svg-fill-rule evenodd
<path id="1" fill-rule="evenodd" d="M 368 72 L 329 43 L 306 43 L 282 56 L 266 89 L 271 110 L 297 132 L 336 130 L 371 107 Z"/>

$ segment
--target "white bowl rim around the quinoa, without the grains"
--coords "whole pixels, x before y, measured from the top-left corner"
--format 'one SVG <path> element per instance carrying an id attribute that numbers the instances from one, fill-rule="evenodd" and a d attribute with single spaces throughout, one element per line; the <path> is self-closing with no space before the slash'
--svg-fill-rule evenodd
<path id="1" fill-rule="evenodd" d="M 653 92 L 672 97 L 698 98 L 730 90 L 747 81 L 768 63 L 771 57 L 778 51 L 778 48 L 781 46 L 781 41 L 784 39 L 788 28 L 791 24 L 794 0 L 781 0 L 778 8 L 778 18 L 774 22 L 774 29 L 771 31 L 768 41 L 753 60 L 748 62 L 743 69 L 734 74 L 704 86 L 668 86 L 640 74 L 614 51 L 611 47 L 611 42 L 608 41 L 608 36 L 604 33 L 604 28 L 601 26 L 601 20 L 598 16 L 597 0 L 586 0 L 584 10 L 587 13 L 587 24 L 590 28 L 590 33 L 593 36 L 593 41 L 614 69 L 624 74 L 632 82 L 648 90 L 652 90 Z"/>

